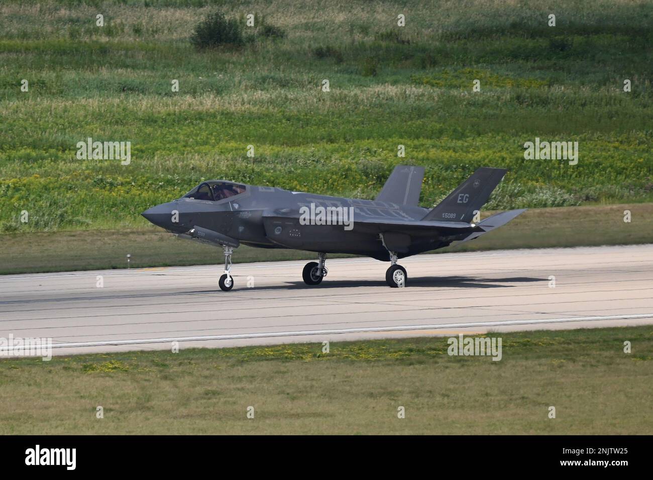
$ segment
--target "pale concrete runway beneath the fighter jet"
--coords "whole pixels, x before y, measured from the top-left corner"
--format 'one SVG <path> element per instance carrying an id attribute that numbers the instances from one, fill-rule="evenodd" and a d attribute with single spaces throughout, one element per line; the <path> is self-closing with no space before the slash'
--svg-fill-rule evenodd
<path id="1" fill-rule="evenodd" d="M 221 266 L 0 276 L 0 337 L 63 355 L 653 323 L 653 244 L 419 255 L 403 289 L 372 259 L 308 287 L 305 263 L 234 264 L 229 293 Z"/>

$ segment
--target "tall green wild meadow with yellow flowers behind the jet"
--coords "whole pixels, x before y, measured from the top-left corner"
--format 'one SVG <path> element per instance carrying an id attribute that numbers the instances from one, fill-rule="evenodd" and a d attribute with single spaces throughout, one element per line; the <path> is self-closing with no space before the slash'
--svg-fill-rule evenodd
<path id="1" fill-rule="evenodd" d="M 197 51 L 189 35 L 216 9 L 285 37 Z M 652 14 L 626 0 L 5 0 L 0 231 L 144 229 L 140 212 L 208 178 L 371 198 L 397 163 L 426 167 L 424 206 L 483 165 L 510 170 L 490 209 L 650 202 Z M 88 137 L 131 142 L 131 164 L 77 159 Z M 579 142 L 579 163 L 525 160 L 535 137 Z"/>

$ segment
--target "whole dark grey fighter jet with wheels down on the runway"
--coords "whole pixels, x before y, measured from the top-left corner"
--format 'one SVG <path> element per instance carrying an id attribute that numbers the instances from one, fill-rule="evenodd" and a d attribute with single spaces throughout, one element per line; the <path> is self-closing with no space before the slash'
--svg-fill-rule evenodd
<path id="1" fill-rule="evenodd" d="M 505 172 L 479 168 L 431 210 L 418 205 L 424 168 L 399 165 L 374 200 L 208 180 L 142 216 L 181 238 L 221 246 L 225 271 L 218 284 L 223 291 L 234 287 L 231 255 L 241 244 L 317 253 L 317 262 L 307 263 L 302 272 L 307 285 L 319 285 L 327 276 L 328 253 L 353 253 L 390 262 L 385 280 L 390 287 L 404 287 L 408 276 L 398 259 L 468 242 L 524 212 L 474 222 Z"/>

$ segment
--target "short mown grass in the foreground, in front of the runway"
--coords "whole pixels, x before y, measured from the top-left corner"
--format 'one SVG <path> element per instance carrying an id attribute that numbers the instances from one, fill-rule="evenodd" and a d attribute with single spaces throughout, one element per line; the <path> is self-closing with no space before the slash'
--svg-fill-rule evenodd
<path id="1" fill-rule="evenodd" d="M 0 434 L 650 434 L 653 327 L 0 361 Z M 624 341 L 632 353 L 624 353 Z M 16 402 L 16 398 L 29 401 Z M 102 406 L 104 418 L 96 418 Z M 254 418 L 247 419 L 247 408 Z M 398 418 L 403 406 L 406 418 Z M 549 419 L 549 407 L 556 418 Z"/>

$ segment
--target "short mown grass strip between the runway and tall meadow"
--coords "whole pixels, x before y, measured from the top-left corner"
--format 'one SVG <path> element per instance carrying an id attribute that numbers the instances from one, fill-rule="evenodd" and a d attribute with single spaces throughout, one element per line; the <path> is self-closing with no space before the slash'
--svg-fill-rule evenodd
<path id="1" fill-rule="evenodd" d="M 630 223 L 624 222 L 630 210 Z M 483 217 L 492 212 L 483 212 Z M 477 240 L 438 250 L 492 250 L 553 248 L 653 242 L 653 203 L 578 206 L 528 210 L 509 225 Z M 130 266 L 197 265 L 223 263 L 222 249 L 175 238 L 156 227 L 139 230 L 34 232 L 0 234 L 0 274 L 102 270 Z M 329 258 L 353 255 L 329 255 Z M 314 260 L 315 253 L 240 246 L 234 263 Z"/>

